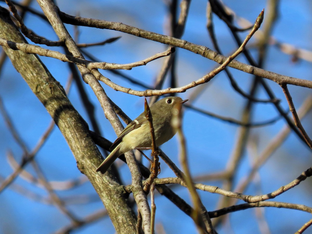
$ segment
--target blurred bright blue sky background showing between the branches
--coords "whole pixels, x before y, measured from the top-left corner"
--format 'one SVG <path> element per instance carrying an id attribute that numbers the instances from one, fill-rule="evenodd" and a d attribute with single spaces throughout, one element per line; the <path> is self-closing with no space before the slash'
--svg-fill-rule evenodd
<path id="1" fill-rule="evenodd" d="M 70 15 L 122 22 L 144 30 L 168 34 L 168 28 L 166 26 L 168 22 L 167 7 L 163 1 L 67 0 L 56 2 L 61 11 Z M 223 2 L 236 12 L 238 16 L 252 23 L 261 10 L 266 7 L 266 1 L 261 0 L 224 0 Z M 5 6 L 3 2 L 0 2 L 0 5 Z M 191 2 L 189 17 L 182 39 L 213 49 L 206 30 L 206 5 L 207 1 Z M 37 2 L 33 2 L 31 7 L 41 12 Z M 273 28 L 272 36 L 281 43 L 289 43 L 297 48 L 311 51 L 311 11 L 312 2 L 309 0 L 280 1 L 279 17 Z M 227 55 L 236 49 L 236 43 L 233 41 L 233 37 L 226 25 L 216 16 L 214 16 L 213 19 L 217 40 L 223 54 Z M 266 20 L 266 18 L 264 20 Z M 46 22 L 41 22 L 38 17 L 27 13 L 25 24 L 39 35 L 47 37 L 50 40 L 58 40 L 52 28 L 49 27 Z M 71 35 L 74 35 L 74 27 L 71 25 L 66 25 L 66 27 Z M 79 27 L 79 32 L 80 43 L 93 43 L 103 41 L 110 37 L 122 36 L 121 39 L 115 43 L 86 49 L 89 53 L 98 58 L 99 61 L 130 63 L 165 51 L 167 48 L 166 45 L 158 42 L 112 30 Z M 245 35 L 245 33 L 241 33 L 241 38 L 243 39 Z M 250 45 L 252 42 L 254 41 L 251 40 Z M 53 47 L 51 49 L 61 51 L 59 48 Z M 251 51 L 254 58 L 256 58 L 256 51 L 253 49 L 251 49 Z M 182 49 L 177 49 L 177 55 L 177 77 L 179 86 L 201 78 L 217 65 L 214 61 L 210 61 L 202 56 Z M 40 57 L 40 59 L 45 63 L 56 80 L 58 80 L 61 85 L 65 86 L 69 77 L 67 65 L 52 58 Z M 237 60 L 246 62 L 243 56 L 239 56 Z M 159 72 L 161 64 L 162 59 L 159 59 L 150 62 L 146 66 L 122 72 L 134 77 L 135 80 L 151 85 Z M 292 62 L 291 56 L 285 55 L 274 46 L 269 47 L 264 68 L 279 74 L 311 80 L 312 66 L 310 62 L 304 60 Z M 239 86 L 247 92 L 252 81 L 252 76 L 235 69 L 230 69 L 230 71 Z M 143 90 L 142 87 L 133 85 L 108 71 L 102 71 L 102 74 L 119 85 L 130 87 L 135 90 Z M 280 86 L 269 80 L 267 80 L 267 83 L 274 91 L 276 97 L 281 99 L 281 105 L 287 110 L 288 105 Z M 124 110 L 130 118 L 134 119 L 144 110 L 144 98 L 117 92 L 104 84 L 102 85 L 107 95 Z M 246 100 L 232 89 L 225 73 L 218 74 L 211 82 L 203 86 L 203 91 L 193 102 L 195 106 L 219 115 L 240 119 L 241 110 Z M 168 87 L 168 82 L 164 85 L 164 88 L 166 87 Z M 92 90 L 86 84 L 85 89 L 96 107 L 96 118 L 101 120 L 100 128 L 103 132 L 103 136 L 114 141 L 116 135 L 109 121 L 105 118 L 103 110 Z M 289 86 L 289 90 L 296 108 L 299 108 L 305 98 L 311 94 L 311 90 L 302 87 Z M 183 99 L 187 99 L 193 92 L 199 93 L 200 91 L 195 88 L 179 94 L 179 96 Z M 74 83 L 68 96 L 78 112 L 89 122 Z M 22 135 L 22 139 L 29 149 L 33 149 L 50 123 L 51 117 L 48 115 L 44 106 L 31 92 L 26 82 L 13 68 L 9 60 L 6 61 L 0 74 L 0 97 L 3 100 L 8 114 L 12 118 L 14 126 Z M 264 91 L 260 89 L 258 91 L 258 98 L 267 99 L 268 97 Z M 278 113 L 275 111 L 273 105 L 256 104 L 252 115 L 252 122 L 272 119 L 277 115 Z M 281 119 L 272 125 L 262 128 L 253 128 L 251 130 L 250 137 L 257 139 L 257 154 L 262 152 L 284 124 L 285 121 Z M 302 124 L 307 133 L 311 136 L 311 113 L 302 120 Z M 236 125 L 224 123 L 223 121 L 204 116 L 193 110 L 185 110 L 183 131 L 187 137 L 189 165 L 194 177 L 207 173 L 219 172 L 226 167 L 227 160 L 235 145 L 237 129 L 238 127 Z M 14 141 L 2 116 L 0 116 L 0 142 L 0 175 L 2 177 L 7 177 L 12 173 L 12 168 L 7 162 L 7 152 L 11 151 L 17 162 L 20 162 L 22 149 L 20 149 Z M 173 162 L 178 166 L 180 165 L 178 161 L 178 144 L 176 137 L 163 144 L 161 148 Z M 251 163 L 250 158 L 252 157 L 255 157 L 255 155 L 250 153 L 250 151 L 246 151 L 245 157 L 239 165 L 235 184 L 248 173 Z M 82 176 L 76 167 L 75 158 L 57 128 L 53 130 L 49 140 L 37 154 L 36 161 L 50 181 L 72 180 Z M 121 176 L 123 180 L 126 184 L 131 183 L 129 169 L 124 163 L 120 163 L 120 165 L 122 165 Z M 259 178 L 256 179 L 256 182 L 252 183 L 244 193 L 251 195 L 270 193 L 290 183 L 303 171 L 311 167 L 311 165 L 311 151 L 295 134 L 290 134 L 281 148 L 279 148 L 269 161 L 261 167 L 259 170 Z M 27 165 L 26 170 L 35 175 L 34 169 L 30 164 Z M 159 177 L 173 176 L 173 172 L 161 161 L 161 174 Z M 222 185 L 220 182 L 215 181 L 201 181 L 201 183 L 215 186 Z M 27 191 L 32 191 L 41 196 L 46 197 L 47 195 L 44 189 L 27 183 L 22 178 L 17 178 L 14 184 L 22 185 Z M 185 188 L 175 188 L 174 191 L 190 203 L 188 192 Z M 308 178 L 306 181 L 302 182 L 302 184 L 282 194 L 275 200 L 299 203 L 311 207 L 311 192 L 311 179 Z M 69 191 L 57 191 L 57 194 L 64 199 L 77 195 L 88 195 L 91 202 L 69 204 L 67 206 L 69 210 L 81 218 L 103 208 L 102 202 L 88 182 Z M 161 224 L 166 233 L 193 233 L 195 227 L 191 219 L 173 206 L 167 198 L 161 197 L 158 193 L 156 194 L 156 224 Z M 204 193 L 202 191 L 199 191 L 199 194 L 208 211 L 213 211 L 216 208 L 216 204 L 221 197 L 221 195 Z M 69 224 L 69 220 L 61 214 L 55 206 L 30 199 L 25 196 L 25 194 L 17 193 L 12 186 L 0 193 L 0 207 L 0 233 L 53 233 Z M 230 216 L 229 222 L 231 228 L 222 227 L 217 229 L 217 231 L 220 234 L 261 233 L 255 217 L 255 209 L 235 212 Z M 264 210 L 264 217 L 269 225 L 271 233 L 294 233 L 305 222 L 311 219 L 308 213 L 277 208 L 266 208 Z M 79 234 L 93 232 L 114 233 L 115 229 L 111 224 L 110 218 L 105 217 L 98 222 L 75 231 L 75 233 Z M 307 233 L 308 232 L 309 231 L 307 231 Z"/>

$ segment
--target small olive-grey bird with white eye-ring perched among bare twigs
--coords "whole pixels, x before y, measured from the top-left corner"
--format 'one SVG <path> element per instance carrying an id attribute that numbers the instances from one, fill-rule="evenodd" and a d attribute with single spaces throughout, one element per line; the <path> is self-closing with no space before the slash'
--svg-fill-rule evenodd
<path id="1" fill-rule="evenodd" d="M 188 100 L 182 100 L 180 97 L 166 97 L 150 106 L 157 146 L 167 142 L 176 134 L 176 129 L 171 125 L 174 106 L 177 103 L 182 105 L 186 101 Z M 96 172 L 100 171 L 104 174 L 121 154 L 133 149 L 151 148 L 151 145 L 149 121 L 143 112 L 120 133 L 110 147 L 111 153 L 96 169 Z"/>

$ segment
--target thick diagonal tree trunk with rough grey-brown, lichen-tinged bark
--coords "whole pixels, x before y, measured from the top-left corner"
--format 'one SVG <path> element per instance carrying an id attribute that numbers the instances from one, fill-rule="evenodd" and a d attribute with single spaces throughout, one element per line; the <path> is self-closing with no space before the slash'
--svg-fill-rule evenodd
<path id="1" fill-rule="evenodd" d="M 18 43 L 26 42 L 10 19 L 9 12 L 2 7 L 0 7 L 0 37 Z M 111 174 L 101 175 L 95 172 L 102 160 L 101 154 L 90 137 L 87 123 L 71 105 L 63 87 L 37 55 L 16 50 L 14 43 L 10 46 L 11 49 L 2 48 L 54 119 L 76 158 L 79 170 L 89 178 L 99 194 L 116 232 L 136 233 L 136 217 L 129 203 L 128 193 Z"/>

